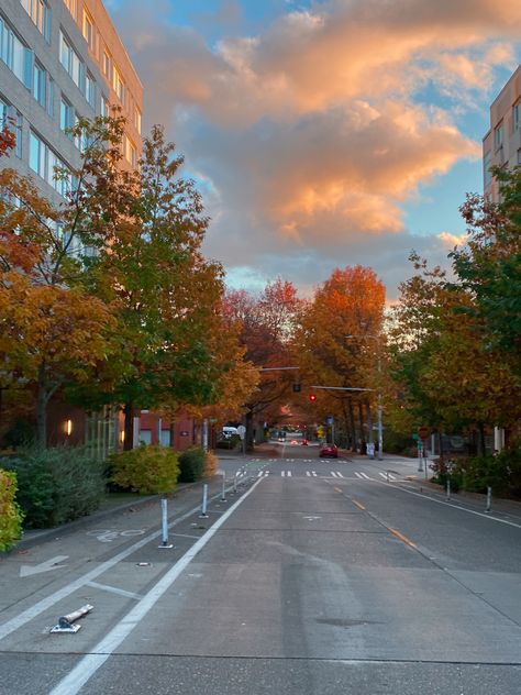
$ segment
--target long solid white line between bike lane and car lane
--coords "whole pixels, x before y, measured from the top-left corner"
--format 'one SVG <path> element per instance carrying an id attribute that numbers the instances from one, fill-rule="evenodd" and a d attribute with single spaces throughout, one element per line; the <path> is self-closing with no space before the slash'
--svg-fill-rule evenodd
<path id="1" fill-rule="evenodd" d="M 100 669 L 109 657 L 118 649 L 124 639 L 140 624 L 146 614 L 155 606 L 163 594 L 170 588 L 180 573 L 189 565 L 196 555 L 204 548 L 208 541 L 235 511 L 248 495 L 257 487 L 260 481 L 254 485 L 237 501 L 230 507 L 220 519 L 195 543 L 182 558 L 157 582 L 155 586 L 134 606 L 126 616 L 87 654 L 81 661 L 54 687 L 49 695 L 76 695 L 91 676 Z"/>

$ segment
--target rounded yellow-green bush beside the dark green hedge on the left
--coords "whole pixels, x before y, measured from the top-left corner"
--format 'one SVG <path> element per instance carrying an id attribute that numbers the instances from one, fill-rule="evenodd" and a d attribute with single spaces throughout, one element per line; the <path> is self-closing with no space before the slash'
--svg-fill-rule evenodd
<path id="1" fill-rule="evenodd" d="M 179 476 L 177 452 L 157 444 L 114 453 L 109 464 L 113 483 L 142 495 L 171 493 Z"/>

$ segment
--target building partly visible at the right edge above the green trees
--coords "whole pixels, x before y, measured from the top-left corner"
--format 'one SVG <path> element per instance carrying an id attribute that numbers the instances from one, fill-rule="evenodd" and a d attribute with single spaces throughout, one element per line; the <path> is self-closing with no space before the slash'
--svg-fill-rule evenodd
<path id="1" fill-rule="evenodd" d="M 521 164 L 521 65 L 490 107 L 490 130 L 483 140 L 484 191 L 499 199 L 490 166 Z"/>

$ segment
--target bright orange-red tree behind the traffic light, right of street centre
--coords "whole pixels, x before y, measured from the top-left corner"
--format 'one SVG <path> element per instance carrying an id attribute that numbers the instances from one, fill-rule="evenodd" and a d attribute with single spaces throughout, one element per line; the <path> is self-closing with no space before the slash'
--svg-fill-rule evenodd
<path id="1" fill-rule="evenodd" d="M 321 421 L 333 415 L 353 445 L 367 441 L 367 428 L 372 432 L 384 360 L 384 302 L 385 288 L 373 269 L 336 268 L 303 307 L 295 332 L 302 382 L 331 387 L 317 389 L 312 413 Z M 347 390 L 358 388 L 370 390 Z M 303 389 L 303 404 L 306 396 Z"/>

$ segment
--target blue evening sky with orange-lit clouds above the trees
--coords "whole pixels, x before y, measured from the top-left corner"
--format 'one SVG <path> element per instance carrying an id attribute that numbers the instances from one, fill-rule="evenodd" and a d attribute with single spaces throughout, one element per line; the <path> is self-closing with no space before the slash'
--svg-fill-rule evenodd
<path id="1" fill-rule="evenodd" d="M 310 295 L 374 268 L 396 299 L 412 250 L 465 236 L 489 107 L 521 58 L 519 0 L 106 0 L 146 129 L 186 157 L 226 282 Z"/>

